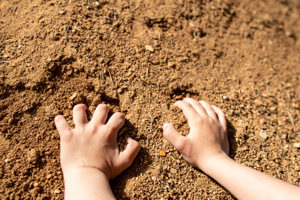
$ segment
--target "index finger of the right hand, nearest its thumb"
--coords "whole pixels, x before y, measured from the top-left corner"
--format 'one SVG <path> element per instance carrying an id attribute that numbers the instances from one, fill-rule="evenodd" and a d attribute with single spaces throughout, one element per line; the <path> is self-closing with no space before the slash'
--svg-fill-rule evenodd
<path id="1" fill-rule="evenodd" d="M 183 115 L 188 120 L 189 126 L 193 123 L 197 123 L 196 119 L 199 119 L 199 113 L 194 109 L 194 107 L 183 100 L 178 100 L 174 103 L 174 106 L 182 110 Z"/>

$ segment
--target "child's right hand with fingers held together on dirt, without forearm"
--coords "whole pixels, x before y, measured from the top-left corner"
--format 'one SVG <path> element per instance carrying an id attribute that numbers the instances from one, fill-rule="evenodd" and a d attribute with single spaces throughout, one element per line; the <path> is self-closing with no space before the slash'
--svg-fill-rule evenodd
<path id="1" fill-rule="evenodd" d="M 220 108 L 191 98 L 176 101 L 174 106 L 183 111 L 190 133 L 185 137 L 173 125 L 164 124 L 163 134 L 187 162 L 204 171 L 209 158 L 228 155 L 226 118 Z"/>

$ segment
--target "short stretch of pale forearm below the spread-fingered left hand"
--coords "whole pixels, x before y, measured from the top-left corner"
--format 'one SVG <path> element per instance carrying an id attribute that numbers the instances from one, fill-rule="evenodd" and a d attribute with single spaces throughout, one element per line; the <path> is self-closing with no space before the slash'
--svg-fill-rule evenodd
<path id="1" fill-rule="evenodd" d="M 115 200 L 106 175 L 96 169 L 64 173 L 65 200 Z"/>

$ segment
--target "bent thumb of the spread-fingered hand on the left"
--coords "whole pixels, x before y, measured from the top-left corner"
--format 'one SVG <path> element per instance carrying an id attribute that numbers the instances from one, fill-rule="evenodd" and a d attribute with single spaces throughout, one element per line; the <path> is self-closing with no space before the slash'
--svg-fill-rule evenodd
<path id="1" fill-rule="evenodd" d="M 121 151 L 119 154 L 119 165 L 123 167 L 123 169 L 126 169 L 129 167 L 134 158 L 139 153 L 139 150 L 141 149 L 140 144 L 133 140 L 131 137 L 128 137 L 126 139 L 127 146 L 124 151 Z"/>

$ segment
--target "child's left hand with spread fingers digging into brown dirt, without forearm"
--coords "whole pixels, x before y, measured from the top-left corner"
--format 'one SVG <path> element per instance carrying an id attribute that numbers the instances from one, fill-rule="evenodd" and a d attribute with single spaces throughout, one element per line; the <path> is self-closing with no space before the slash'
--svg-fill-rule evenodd
<path id="1" fill-rule="evenodd" d="M 65 175 L 68 172 L 96 170 L 112 179 L 131 165 L 140 150 L 140 145 L 137 141 L 127 138 L 127 147 L 120 152 L 117 134 L 124 125 L 124 115 L 114 113 L 105 124 L 109 108 L 106 104 L 99 104 L 89 122 L 86 109 L 84 104 L 75 105 L 74 129 L 70 128 L 62 115 L 54 120 L 60 135 L 63 173 Z"/>

